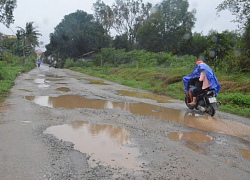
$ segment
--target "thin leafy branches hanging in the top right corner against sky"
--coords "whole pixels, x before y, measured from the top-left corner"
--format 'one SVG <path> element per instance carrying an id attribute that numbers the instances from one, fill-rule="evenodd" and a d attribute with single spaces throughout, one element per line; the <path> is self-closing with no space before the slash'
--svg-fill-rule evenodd
<path id="1" fill-rule="evenodd" d="M 236 22 L 246 25 L 250 19 L 250 1 L 249 0 L 224 0 L 218 5 L 217 11 L 229 10 L 236 15 Z"/>

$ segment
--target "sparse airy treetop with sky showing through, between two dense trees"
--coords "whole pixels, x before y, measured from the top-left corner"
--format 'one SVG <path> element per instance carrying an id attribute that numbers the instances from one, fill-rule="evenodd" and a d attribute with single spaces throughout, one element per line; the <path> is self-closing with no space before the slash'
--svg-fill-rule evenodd
<path id="1" fill-rule="evenodd" d="M 116 0 L 110 7 L 97 0 L 93 7 L 95 18 L 101 22 L 106 32 L 110 34 L 110 29 L 113 28 L 122 40 L 127 36 L 128 47 L 133 49 L 137 30 L 148 19 L 152 4 L 143 3 L 142 0 Z"/>

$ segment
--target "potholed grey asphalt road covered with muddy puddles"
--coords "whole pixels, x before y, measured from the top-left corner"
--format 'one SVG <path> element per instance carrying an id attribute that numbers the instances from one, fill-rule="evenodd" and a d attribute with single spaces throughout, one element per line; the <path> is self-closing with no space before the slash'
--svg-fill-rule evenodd
<path id="1" fill-rule="evenodd" d="M 0 105 L 1 179 L 250 177 L 250 119 L 41 65 Z"/>

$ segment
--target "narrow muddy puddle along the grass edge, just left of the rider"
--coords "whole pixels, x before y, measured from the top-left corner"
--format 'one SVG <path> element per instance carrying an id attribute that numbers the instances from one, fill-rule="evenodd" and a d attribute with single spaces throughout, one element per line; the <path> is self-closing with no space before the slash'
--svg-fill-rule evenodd
<path id="1" fill-rule="evenodd" d="M 125 90 L 117 90 L 116 92 L 124 96 L 152 99 L 157 101 L 158 103 L 169 103 L 169 100 L 171 99 L 166 96 L 161 96 L 147 92 L 136 92 L 136 91 L 125 91 Z"/>

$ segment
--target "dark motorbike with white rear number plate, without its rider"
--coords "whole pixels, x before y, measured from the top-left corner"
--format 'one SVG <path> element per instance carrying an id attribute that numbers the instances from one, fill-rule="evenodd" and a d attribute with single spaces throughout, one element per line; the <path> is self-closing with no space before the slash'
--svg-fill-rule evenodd
<path id="1" fill-rule="evenodd" d="M 218 102 L 215 97 L 215 90 L 207 90 L 204 93 L 197 96 L 197 101 L 195 106 L 190 106 L 188 103 L 190 102 L 189 94 L 186 93 L 185 96 L 185 104 L 189 109 L 196 109 L 203 113 L 207 113 L 210 116 L 214 116 L 216 110 L 221 105 L 221 102 Z"/>

